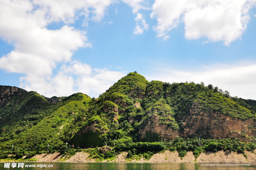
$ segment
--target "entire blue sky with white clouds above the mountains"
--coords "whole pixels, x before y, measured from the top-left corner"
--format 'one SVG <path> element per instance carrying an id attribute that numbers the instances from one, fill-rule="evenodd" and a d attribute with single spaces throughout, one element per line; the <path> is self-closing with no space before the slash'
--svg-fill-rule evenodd
<path id="1" fill-rule="evenodd" d="M 47 97 L 98 97 L 136 70 L 149 81 L 203 81 L 256 99 L 255 1 L 205 1 L 209 9 L 197 1 L 101 1 L 80 4 L 87 10 L 70 1 L 67 11 L 61 2 L 6 2 L 17 12 L 0 27 L 0 84 Z"/>

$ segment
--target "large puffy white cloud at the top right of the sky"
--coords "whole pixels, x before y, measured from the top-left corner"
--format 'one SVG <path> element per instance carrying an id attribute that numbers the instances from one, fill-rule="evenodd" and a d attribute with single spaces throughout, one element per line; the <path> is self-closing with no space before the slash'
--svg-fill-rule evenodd
<path id="1" fill-rule="evenodd" d="M 206 37 L 229 45 L 246 30 L 254 5 L 255 0 L 155 0 L 150 17 L 157 19 L 157 37 L 166 37 L 182 20 L 187 39 Z"/>

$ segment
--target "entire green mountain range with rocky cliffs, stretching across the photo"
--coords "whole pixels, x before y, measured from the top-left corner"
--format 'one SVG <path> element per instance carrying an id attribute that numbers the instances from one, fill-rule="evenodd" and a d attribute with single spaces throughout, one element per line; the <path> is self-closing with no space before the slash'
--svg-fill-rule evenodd
<path id="1" fill-rule="evenodd" d="M 148 82 L 136 72 L 97 99 L 82 93 L 46 98 L 10 86 L 0 86 L 0 97 L 0 150 L 16 145 L 38 153 L 49 144 L 50 151 L 64 152 L 66 143 L 88 148 L 113 146 L 115 140 L 116 150 L 153 152 L 165 141 L 182 155 L 201 153 L 198 137 L 208 149 L 221 140 L 230 150 L 245 150 L 243 141 L 256 136 L 255 100 L 230 97 L 211 84 Z"/>

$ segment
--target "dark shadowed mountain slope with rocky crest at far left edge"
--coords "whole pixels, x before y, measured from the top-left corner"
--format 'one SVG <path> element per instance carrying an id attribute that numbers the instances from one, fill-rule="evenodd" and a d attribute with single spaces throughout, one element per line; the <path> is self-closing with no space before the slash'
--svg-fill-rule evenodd
<path id="1" fill-rule="evenodd" d="M 40 94 L 27 92 L 20 88 L 0 86 L 0 128 L 5 133 L 19 133 L 23 128 L 37 124 L 46 115 L 50 105 Z"/>

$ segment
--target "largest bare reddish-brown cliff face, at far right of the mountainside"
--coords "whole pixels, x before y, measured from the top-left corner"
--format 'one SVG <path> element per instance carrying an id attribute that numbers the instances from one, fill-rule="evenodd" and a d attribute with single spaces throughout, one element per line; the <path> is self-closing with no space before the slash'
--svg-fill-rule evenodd
<path id="1" fill-rule="evenodd" d="M 180 134 L 181 136 L 186 137 L 200 132 L 213 138 L 236 137 L 244 141 L 247 135 L 256 135 L 255 131 L 247 129 L 248 125 L 255 125 L 252 120 L 242 121 L 213 111 L 207 113 L 199 109 L 200 106 L 199 103 L 193 103 L 190 115 L 182 119 L 184 133 Z"/>

